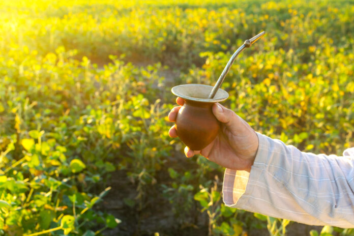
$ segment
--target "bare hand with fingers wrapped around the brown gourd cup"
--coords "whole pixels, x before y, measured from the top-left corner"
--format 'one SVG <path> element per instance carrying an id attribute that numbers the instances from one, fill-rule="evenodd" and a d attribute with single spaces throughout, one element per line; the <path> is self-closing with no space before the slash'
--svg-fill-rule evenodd
<path id="1" fill-rule="evenodd" d="M 177 98 L 180 106 L 173 107 L 168 114 L 168 120 L 175 122 L 176 116 L 184 104 L 182 98 Z M 221 123 L 218 136 L 202 150 L 185 148 L 186 157 L 201 154 L 210 161 L 234 170 L 251 171 L 258 150 L 258 136 L 250 125 L 235 112 L 216 103 L 213 113 Z M 170 137 L 178 137 L 174 126 L 168 131 Z"/>

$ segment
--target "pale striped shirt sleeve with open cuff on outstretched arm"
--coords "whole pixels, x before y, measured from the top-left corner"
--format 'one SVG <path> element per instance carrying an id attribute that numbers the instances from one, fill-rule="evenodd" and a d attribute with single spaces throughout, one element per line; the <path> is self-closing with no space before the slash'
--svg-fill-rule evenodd
<path id="1" fill-rule="evenodd" d="M 354 149 L 304 153 L 259 134 L 250 173 L 226 169 L 226 205 L 309 225 L 354 227 Z"/>

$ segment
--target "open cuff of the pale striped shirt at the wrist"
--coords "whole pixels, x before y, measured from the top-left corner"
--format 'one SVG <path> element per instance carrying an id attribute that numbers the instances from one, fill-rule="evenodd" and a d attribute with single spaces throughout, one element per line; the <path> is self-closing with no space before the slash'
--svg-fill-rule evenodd
<path id="1" fill-rule="evenodd" d="M 255 163 L 267 163 L 269 141 L 268 137 L 257 133 L 258 150 L 255 157 Z M 252 196 L 253 187 L 255 185 L 247 185 L 249 181 L 257 181 L 263 171 L 264 165 L 255 165 L 251 167 L 251 171 L 232 170 L 226 168 L 223 182 L 223 200 L 227 206 L 239 208 L 239 205 L 247 203 L 247 197 Z"/>

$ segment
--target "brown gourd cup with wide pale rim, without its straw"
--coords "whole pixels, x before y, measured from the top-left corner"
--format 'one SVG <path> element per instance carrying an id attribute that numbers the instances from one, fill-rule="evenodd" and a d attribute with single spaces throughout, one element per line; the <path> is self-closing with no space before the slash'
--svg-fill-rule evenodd
<path id="1" fill-rule="evenodd" d="M 176 117 L 176 132 L 192 150 L 202 150 L 216 138 L 220 129 L 212 107 L 214 103 L 225 101 L 228 93 L 219 88 L 214 98 L 208 98 L 212 89 L 213 86 L 205 84 L 172 87 L 172 93 L 185 101 Z"/>

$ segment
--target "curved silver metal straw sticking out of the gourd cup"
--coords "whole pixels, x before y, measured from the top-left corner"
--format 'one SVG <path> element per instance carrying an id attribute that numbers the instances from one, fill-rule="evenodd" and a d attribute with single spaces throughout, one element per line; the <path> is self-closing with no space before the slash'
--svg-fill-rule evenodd
<path id="1" fill-rule="evenodd" d="M 230 70 L 230 67 L 233 63 L 233 61 L 235 61 L 235 58 L 246 48 L 246 47 L 251 47 L 252 44 L 254 44 L 258 39 L 260 39 L 263 35 L 265 34 L 265 32 L 261 32 L 258 35 L 254 36 L 251 39 L 248 39 L 244 42 L 244 44 L 242 44 L 241 47 L 239 47 L 239 49 L 237 49 L 233 55 L 231 56 L 230 60 L 228 61 L 226 67 L 224 68 L 224 70 L 222 71 L 218 81 L 216 82 L 216 84 L 214 85 L 212 92 L 210 93 L 208 98 L 214 98 L 216 92 L 218 91 L 220 85 L 222 84 L 222 82 L 224 82 L 225 76 L 227 75 L 228 71 Z"/>

